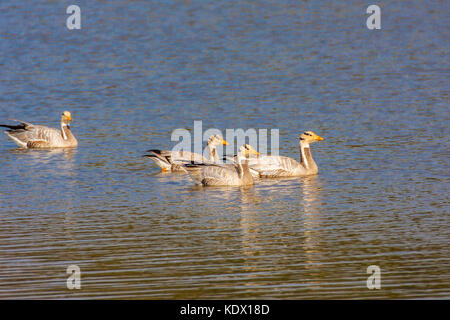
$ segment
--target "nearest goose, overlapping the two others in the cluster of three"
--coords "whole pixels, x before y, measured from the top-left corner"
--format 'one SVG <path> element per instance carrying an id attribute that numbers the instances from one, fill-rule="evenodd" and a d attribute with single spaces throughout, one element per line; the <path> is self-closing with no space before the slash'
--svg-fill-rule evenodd
<path id="1" fill-rule="evenodd" d="M 198 185 L 203 186 L 245 186 L 253 184 L 248 168 L 248 157 L 259 155 L 250 145 L 245 144 L 234 156 L 233 164 L 186 164 L 184 167 Z M 199 170 L 200 169 L 200 170 Z"/>

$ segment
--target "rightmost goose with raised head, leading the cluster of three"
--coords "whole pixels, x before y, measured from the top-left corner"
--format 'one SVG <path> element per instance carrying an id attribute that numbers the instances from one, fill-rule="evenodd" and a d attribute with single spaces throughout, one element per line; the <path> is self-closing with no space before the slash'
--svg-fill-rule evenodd
<path id="1" fill-rule="evenodd" d="M 309 144 L 324 140 L 312 131 L 300 135 L 300 162 L 283 156 L 260 156 L 249 160 L 252 172 L 261 178 L 294 177 L 317 174 L 319 169 L 311 156 Z"/>

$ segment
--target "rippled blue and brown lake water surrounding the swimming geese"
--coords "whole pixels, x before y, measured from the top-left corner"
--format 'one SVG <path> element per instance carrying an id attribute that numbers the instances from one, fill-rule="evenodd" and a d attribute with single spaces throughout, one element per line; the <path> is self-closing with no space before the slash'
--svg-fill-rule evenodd
<path id="1" fill-rule="evenodd" d="M 0 298 L 450 298 L 445 1 L 0 4 Z M 277 128 L 319 175 L 198 188 L 141 155 L 176 128 Z M 81 290 L 66 268 L 81 269 Z M 366 269 L 381 269 L 369 290 Z"/>

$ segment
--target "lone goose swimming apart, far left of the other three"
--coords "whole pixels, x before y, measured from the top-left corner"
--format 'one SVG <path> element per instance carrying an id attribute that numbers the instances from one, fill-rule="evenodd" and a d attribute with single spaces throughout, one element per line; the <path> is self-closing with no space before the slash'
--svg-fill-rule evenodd
<path id="1" fill-rule="evenodd" d="M 37 126 L 31 123 L 17 121 L 18 125 L 1 124 L 0 127 L 8 128 L 5 133 L 21 148 L 73 148 L 78 141 L 70 130 L 72 116 L 69 111 L 61 115 L 61 130 Z"/>

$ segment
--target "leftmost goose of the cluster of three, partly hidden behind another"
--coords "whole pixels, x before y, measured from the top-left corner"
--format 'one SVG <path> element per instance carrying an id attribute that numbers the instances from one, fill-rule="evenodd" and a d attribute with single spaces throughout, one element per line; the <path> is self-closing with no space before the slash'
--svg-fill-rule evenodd
<path id="1" fill-rule="evenodd" d="M 163 172 L 168 171 L 183 171 L 186 169 L 182 166 L 183 164 L 195 162 L 195 163 L 215 163 L 219 161 L 219 156 L 217 155 L 217 146 L 228 145 L 221 136 L 215 134 L 209 137 L 206 146 L 208 149 L 208 157 L 205 158 L 203 155 L 189 152 L 189 151 L 172 151 L 172 150 L 157 150 L 151 149 L 147 150 L 150 154 L 144 155 L 152 159 L 158 167 L 162 169 Z"/>

